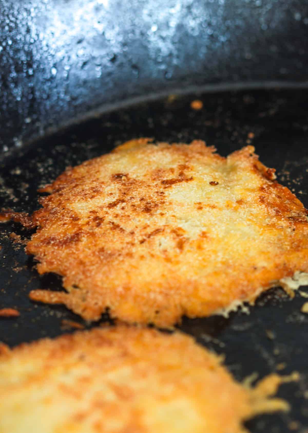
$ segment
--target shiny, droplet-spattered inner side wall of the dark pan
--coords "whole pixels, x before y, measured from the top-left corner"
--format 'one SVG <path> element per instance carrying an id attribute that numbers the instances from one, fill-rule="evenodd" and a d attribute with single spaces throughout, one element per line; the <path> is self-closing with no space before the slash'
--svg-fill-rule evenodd
<path id="1" fill-rule="evenodd" d="M 0 0 L 0 150 L 133 97 L 308 85 L 303 0 Z"/>

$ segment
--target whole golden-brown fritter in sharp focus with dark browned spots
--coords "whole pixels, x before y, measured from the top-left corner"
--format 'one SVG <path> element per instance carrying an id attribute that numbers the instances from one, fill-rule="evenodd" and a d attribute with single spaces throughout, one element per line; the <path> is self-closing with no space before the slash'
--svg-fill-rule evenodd
<path id="1" fill-rule="evenodd" d="M 35 290 L 32 300 L 88 320 L 108 308 L 129 323 L 169 326 L 305 280 L 305 208 L 254 147 L 223 158 L 200 140 L 148 142 L 127 142 L 44 188 L 51 195 L 26 249 L 39 273 L 63 276 L 67 293 Z"/>

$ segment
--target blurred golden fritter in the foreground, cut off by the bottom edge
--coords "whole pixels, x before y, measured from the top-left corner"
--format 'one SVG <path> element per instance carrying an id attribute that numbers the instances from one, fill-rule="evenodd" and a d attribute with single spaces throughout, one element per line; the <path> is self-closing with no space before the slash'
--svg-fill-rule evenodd
<path id="1" fill-rule="evenodd" d="M 22 344 L 0 355 L 1 433 L 239 433 L 282 381 L 234 381 L 181 333 L 117 326 Z"/>

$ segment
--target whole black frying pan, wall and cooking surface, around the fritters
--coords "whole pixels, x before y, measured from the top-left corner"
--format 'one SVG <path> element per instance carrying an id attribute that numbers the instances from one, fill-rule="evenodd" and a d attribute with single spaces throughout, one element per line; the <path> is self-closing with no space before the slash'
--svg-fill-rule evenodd
<path id="1" fill-rule="evenodd" d="M 308 15 L 302 3 L 136 1 L 128 7 L 112 0 L 0 0 L 0 7 L 0 46 L 6 42 L 0 53 L 1 207 L 32 213 L 37 188 L 68 165 L 141 136 L 202 138 L 222 155 L 251 142 L 308 207 Z M 202 110 L 191 108 L 194 99 Z M 14 346 L 57 336 L 63 319 L 89 327 L 65 307 L 29 301 L 30 290 L 61 290 L 61 281 L 39 276 L 12 232 L 31 235 L 13 222 L 0 226 L 0 305 L 21 313 L 0 319 L 0 339 Z M 307 431 L 305 301 L 299 292 L 290 300 L 271 289 L 249 315 L 184 317 L 179 326 L 223 353 L 238 380 L 277 368 L 301 373 L 298 383 L 279 390 L 291 412 L 249 421 L 253 433 Z"/>

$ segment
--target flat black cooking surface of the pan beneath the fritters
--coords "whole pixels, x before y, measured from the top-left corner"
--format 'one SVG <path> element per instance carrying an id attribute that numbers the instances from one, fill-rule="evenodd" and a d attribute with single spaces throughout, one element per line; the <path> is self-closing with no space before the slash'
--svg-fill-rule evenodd
<path id="1" fill-rule="evenodd" d="M 203 101 L 202 110 L 191 108 L 196 98 Z M 260 160 L 277 168 L 279 181 L 308 207 L 307 108 L 307 90 L 294 89 L 175 95 L 127 103 L 127 107 L 2 155 L 0 207 L 32 213 L 38 208 L 37 188 L 54 180 L 68 165 L 143 136 L 168 142 L 201 138 L 215 145 L 222 155 L 251 142 Z M 249 138 L 251 132 L 254 138 Z M 25 255 L 23 246 L 13 243 L 12 232 L 23 239 L 31 234 L 13 222 L 0 226 L 0 306 L 20 311 L 18 318 L 0 319 L 0 340 L 14 346 L 60 335 L 64 332 L 62 319 L 83 323 L 65 307 L 29 301 L 30 290 L 61 290 L 61 281 L 57 275 L 39 276 L 32 257 Z M 238 380 L 252 372 L 263 377 L 277 368 L 283 374 L 301 373 L 298 383 L 283 385 L 279 390 L 279 396 L 292 404 L 292 411 L 249 421 L 247 427 L 253 433 L 308 431 L 308 315 L 300 311 L 305 301 L 299 292 L 291 300 L 282 289 L 271 289 L 249 308 L 249 315 L 238 311 L 229 319 L 184 318 L 179 326 L 204 346 L 225 354 L 225 364 Z M 107 315 L 104 320 L 108 320 Z"/>

